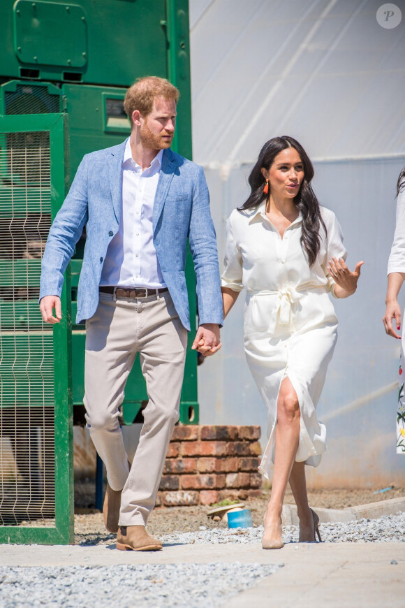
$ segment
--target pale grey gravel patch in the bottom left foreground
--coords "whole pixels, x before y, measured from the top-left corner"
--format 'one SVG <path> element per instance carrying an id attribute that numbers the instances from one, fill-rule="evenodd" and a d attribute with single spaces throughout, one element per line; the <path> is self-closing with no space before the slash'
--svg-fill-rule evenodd
<path id="1" fill-rule="evenodd" d="M 0 567 L 2 608 L 216 608 L 280 566 L 240 563 Z"/>

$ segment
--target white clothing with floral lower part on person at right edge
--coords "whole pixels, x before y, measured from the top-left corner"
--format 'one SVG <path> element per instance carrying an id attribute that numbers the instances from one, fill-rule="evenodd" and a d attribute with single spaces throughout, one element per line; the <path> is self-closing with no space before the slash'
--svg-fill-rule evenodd
<path id="1" fill-rule="evenodd" d="M 405 273 L 405 189 L 399 193 L 397 198 L 397 218 L 395 221 L 394 242 L 392 243 L 390 259 L 388 260 L 388 274 L 390 273 Z M 405 322 L 404 314 L 405 311 L 402 312 L 402 327 Z M 405 454 L 405 372 L 402 369 L 402 365 L 405 361 L 405 333 L 402 327 L 397 406 L 397 454 Z"/>

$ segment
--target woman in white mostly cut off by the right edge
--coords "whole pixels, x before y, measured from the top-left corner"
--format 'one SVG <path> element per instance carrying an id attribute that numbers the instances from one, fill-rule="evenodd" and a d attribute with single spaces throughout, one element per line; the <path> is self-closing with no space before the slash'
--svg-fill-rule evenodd
<path id="1" fill-rule="evenodd" d="M 385 296 L 385 314 L 383 324 L 385 331 L 392 338 L 401 340 L 401 360 L 399 363 L 399 391 L 397 407 L 397 454 L 405 454 L 405 391 L 402 365 L 405 361 L 405 335 L 402 339 L 395 331 L 401 329 L 401 307 L 397 301 L 399 290 L 405 279 L 405 167 L 399 174 L 397 182 L 397 218 L 395 222 L 394 242 L 388 260 L 388 287 Z M 395 326 L 392 325 L 395 320 Z"/>

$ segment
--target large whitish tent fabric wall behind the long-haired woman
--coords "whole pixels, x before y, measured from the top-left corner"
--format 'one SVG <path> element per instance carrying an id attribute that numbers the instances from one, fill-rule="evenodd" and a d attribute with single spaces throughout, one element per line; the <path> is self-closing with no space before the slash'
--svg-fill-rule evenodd
<path id="1" fill-rule="evenodd" d="M 395 454 L 399 347 L 381 322 L 405 165 L 405 0 L 392 29 L 376 19 L 382 5 L 190 0 L 193 157 L 205 168 L 220 259 L 226 218 L 246 198 L 260 147 L 288 134 L 314 160 L 314 188 L 341 222 L 349 265 L 365 261 L 357 294 L 334 302 L 339 340 L 318 405 L 329 449 L 310 477 L 318 486 L 405 482 L 405 457 Z M 223 348 L 199 368 L 200 421 L 260 424 L 265 442 L 242 309 L 240 296 Z"/>

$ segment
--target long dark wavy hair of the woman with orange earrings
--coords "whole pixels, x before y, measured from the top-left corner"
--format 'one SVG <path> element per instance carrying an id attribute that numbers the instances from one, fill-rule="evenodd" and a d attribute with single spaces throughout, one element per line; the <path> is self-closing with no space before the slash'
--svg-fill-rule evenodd
<path id="1" fill-rule="evenodd" d="M 318 198 L 316 198 L 314 190 L 311 187 L 311 180 L 314 177 L 314 167 L 309 160 L 307 152 L 305 152 L 304 148 L 297 140 L 287 135 L 283 135 L 281 137 L 274 137 L 265 143 L 260 150 L 258 160 L 249 175 L 248 181 L 251 187 L 251 193 L 244 204 L 241 207 L 238 207 L 238 209 L 240 211 L 251 209 L 260 205 L 260 203 L 267 198 L 267 195 L 263 194 L 263 187 L 266 180 L 261 169 L 265 168 L 268 171 L 274 162 L 274 158 L 277 157 L 277 154 L 282 150 L 286 150 L 288 147 L 293 147 L 297 150 L 304 166 L 304 179 L 302 180 L 300 191 L 294 198 L 294 204 L 302 214 L 301 247 L 304 252 L 307 253 L 309 266 L 312 266 L 321 247 L 321 238 L 319 236 L 321 225 L 325 230 L 325 235 L 327 234 L 327 231 L 321 216 Z M 270 196 L 270 191 L 268 196 Z"/>

